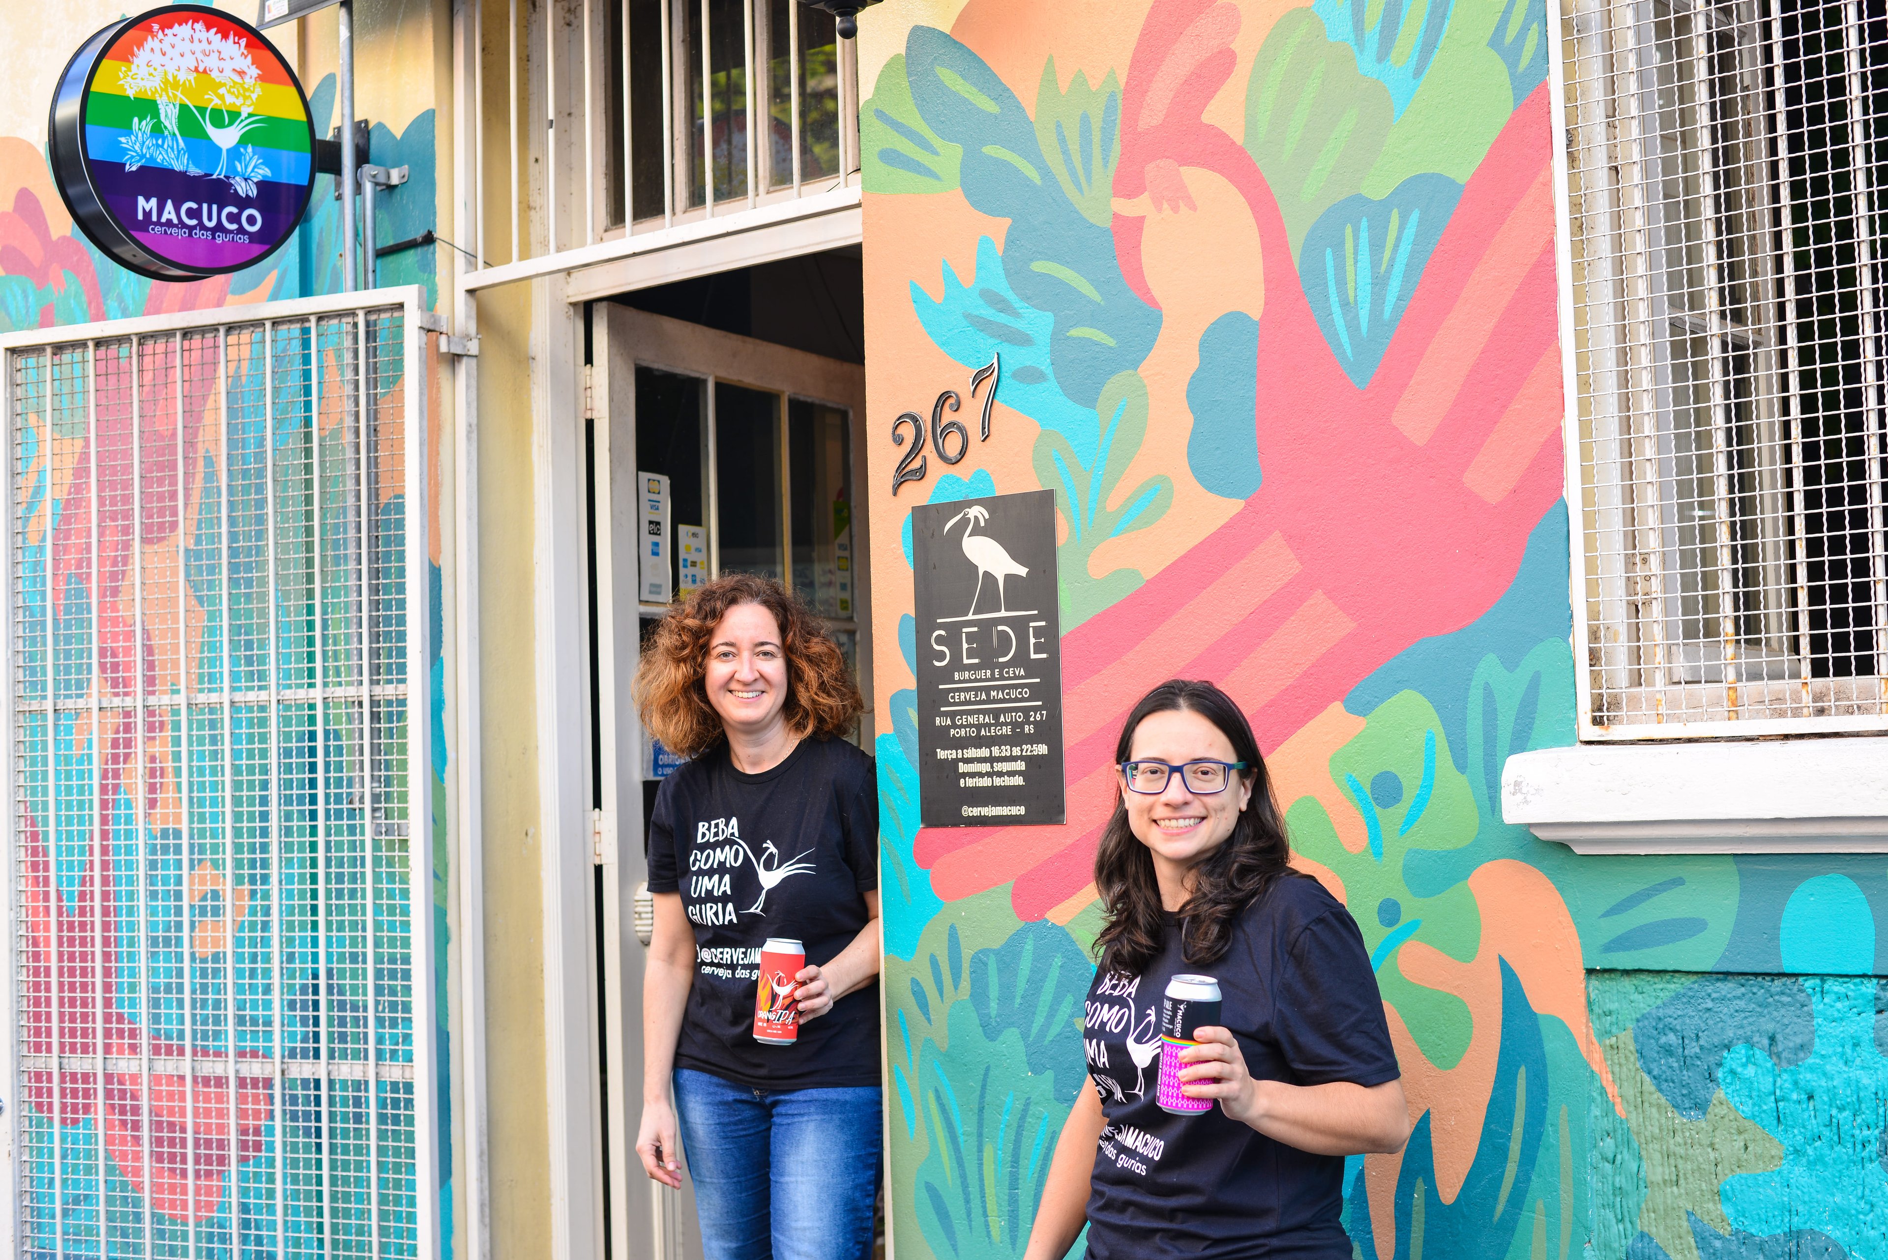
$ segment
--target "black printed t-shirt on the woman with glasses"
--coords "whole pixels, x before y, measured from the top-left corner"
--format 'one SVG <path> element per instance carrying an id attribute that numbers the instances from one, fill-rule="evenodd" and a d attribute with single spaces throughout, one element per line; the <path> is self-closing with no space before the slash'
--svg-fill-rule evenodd
<path id="1" fill-rule="evenodd" d="M 1087 992 L 1087 1071 L 1106 1118 L 1087 1254 L 1350 1260 L 1340 1156 L 1273 1141 L 1218 1107 L 1161 1111 L 1161 994 L 1174 973 L 1220 980 L 1222 1020 L 1254 1079 L 1371 1086 L 1399 1075 L 1363 933 L 1318 880 L 1274 882 L 1208 965 L 1182 962 L 1180 918 L 1169 914 L 1152 967 L 1138 977 L 1103 967 Z"/>

